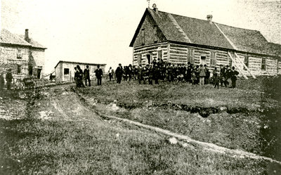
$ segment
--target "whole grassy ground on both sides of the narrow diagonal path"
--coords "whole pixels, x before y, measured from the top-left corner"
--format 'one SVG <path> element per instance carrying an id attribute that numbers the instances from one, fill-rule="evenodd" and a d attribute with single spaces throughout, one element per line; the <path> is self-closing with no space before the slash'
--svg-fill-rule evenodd
<path id="1" fill-rule="evenodd" d="M 0 94 L 1 102 L 8 100 L 4 105 L 7 111 L 17 108 L 17 112 L 0 117 L 0 174 L 280 172 L 279 165 L 265 160 L 231 157 L 181 142 L 171 144 L 167 136 L 105 120 L 94 112 L 266 154 L 267 148 L 276 143 L 279 130 L 275 129 L 280 126 L 280 120 L 268 119 L 266 113 L 278 112 L 279 103 L 275 95 L 265 95 L 261 89 L 106 82 L 78 91 L 86 101 L 81 101 L 69 85 Z M 272 150 L 267 154 L 276 159 L 280 152 Z"/>

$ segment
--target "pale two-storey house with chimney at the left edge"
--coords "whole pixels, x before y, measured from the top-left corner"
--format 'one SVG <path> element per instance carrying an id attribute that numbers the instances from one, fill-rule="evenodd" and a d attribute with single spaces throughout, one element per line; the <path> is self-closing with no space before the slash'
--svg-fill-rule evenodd
<path id="1" fill-rule="evenodd" d="M 12 34 L 1 30 L 0 39 L 0 74 L 11 69 L 14 82 L 33 76 L 43 78 L 46 47 L 29 37 L 28 30 L 24 35 Z"/>

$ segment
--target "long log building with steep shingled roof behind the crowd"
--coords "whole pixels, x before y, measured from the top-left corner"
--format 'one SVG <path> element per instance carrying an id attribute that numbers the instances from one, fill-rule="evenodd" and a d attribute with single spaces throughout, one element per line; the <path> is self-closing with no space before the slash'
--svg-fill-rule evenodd
<path id="1" fill-rule="evenodd" d="M 261 32 L 189 18 L 146 8 L 131 40 L 133 65 L 153 59 L 177 65 L 235 66 L 247 76 L 281 74 L 281 45 L 266 40 Z"/>

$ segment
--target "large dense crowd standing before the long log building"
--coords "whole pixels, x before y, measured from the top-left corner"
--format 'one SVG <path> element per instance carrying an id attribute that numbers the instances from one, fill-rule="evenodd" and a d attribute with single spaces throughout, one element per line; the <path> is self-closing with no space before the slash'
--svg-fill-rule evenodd
<path id="1" fill-rule="evenodd" d="M 108 71 L 110 81 L 112 81 L 112 75 L 114 71 L 112 67 Z M 115 77 L 119 84 L 121 80 L 131 81 L 131 79 L 137 79 L 139 84 L 159 84 L 159 80 L 167 82 L 190 82 L 191 84 L 214 84 L 215 88 L 221 83 L 221 86 L 229 86 L 228 80 L 231 80 L 231 87 L 235 88 L 237 75 L 239 72 L 235 70 L 235 67 L 229 65 L 220 65 L 218 70 L 216 67 L 212 71 L 213 76 L 207 65 L 192 65 L 188 62 L 188 65 L 178 64 L 173 65 L 164 61 L 153 61 L 150 65 L 134 65 L 124 66 L 121 64 L 115 70 Z"/>

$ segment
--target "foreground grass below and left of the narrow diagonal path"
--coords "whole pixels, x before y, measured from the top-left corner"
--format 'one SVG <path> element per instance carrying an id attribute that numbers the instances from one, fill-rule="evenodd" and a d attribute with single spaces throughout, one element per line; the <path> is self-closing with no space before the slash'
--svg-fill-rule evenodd
<path id="1" fill-rule="evenodd" d="M 16 100 L 27 103 L 24 115 L 0 119 L 0 174 L 266 174 L 275 166 L 105 121 L 70 91 Z"/>

